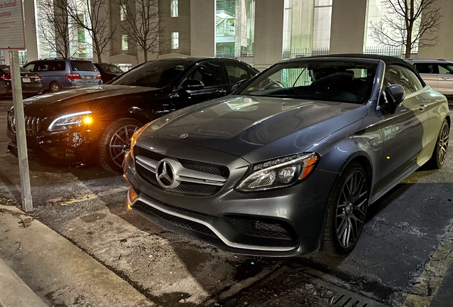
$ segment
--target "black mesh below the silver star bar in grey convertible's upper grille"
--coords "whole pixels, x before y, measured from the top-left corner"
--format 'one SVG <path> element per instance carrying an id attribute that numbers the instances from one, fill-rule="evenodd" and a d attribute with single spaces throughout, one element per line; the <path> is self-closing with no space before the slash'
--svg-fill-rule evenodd
<path id="1" fill-rule="evenodd" d="M 195 195 L 195 196 L 211 196 L 219 192 L 222 189 L 222 186 L 219 185 L 205 185 L 202 183 L 189 183 L 189 182 L 182 182 L 176 188 L 171 189 L 164 189 L 162 188 L 159 183 L 157 183 L 155 173 L 149 171 L 147 168 L 144 168 L 138 163 L 135 163 L 137 168 L 137 173 L 140 177 L 147 180 L 149 183 L 154 185 L 156 188 L 160 190 L 164 190 L 167 193 L 176 193 L 176 194 L 184 194 L 184 195 Z"/>

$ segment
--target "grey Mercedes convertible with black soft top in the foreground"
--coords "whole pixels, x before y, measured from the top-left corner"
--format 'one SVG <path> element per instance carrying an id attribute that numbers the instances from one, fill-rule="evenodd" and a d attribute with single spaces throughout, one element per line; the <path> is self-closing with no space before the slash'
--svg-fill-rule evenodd
<path id="1" fill-rule="evenodd" d="M 404 60 L 286 60 L 132 136 L 127 206 L 227 252 L 350 252 L 368 206 L 446 161 L 447 100 Z M 402 217 L 403 219 L 404 217 Z"/>

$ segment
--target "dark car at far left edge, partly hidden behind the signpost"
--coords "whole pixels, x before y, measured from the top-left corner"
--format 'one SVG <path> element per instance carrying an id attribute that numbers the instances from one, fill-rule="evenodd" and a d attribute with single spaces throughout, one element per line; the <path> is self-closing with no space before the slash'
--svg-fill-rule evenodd
<path id="1" fill-rule="evenodd" d="M 22 92 L 27 94 L 39 94 L 43 92 L 41 77 L 35 72 L 21 68 Z M 0 95 L 11 92 L 11 70 L 9 65 L 0 65 Z"/>

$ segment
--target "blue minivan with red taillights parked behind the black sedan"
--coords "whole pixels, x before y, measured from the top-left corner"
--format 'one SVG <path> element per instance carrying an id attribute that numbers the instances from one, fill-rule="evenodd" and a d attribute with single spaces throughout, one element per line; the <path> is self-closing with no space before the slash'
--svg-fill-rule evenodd
<path id="1" fill-rule="evenodd" d="M 36 72 L 43 81 L 44 90 L 48 92 L 103 84 L 98 69 L 87 60 L 34 60 L 26 63 L 24 68 Z"/>

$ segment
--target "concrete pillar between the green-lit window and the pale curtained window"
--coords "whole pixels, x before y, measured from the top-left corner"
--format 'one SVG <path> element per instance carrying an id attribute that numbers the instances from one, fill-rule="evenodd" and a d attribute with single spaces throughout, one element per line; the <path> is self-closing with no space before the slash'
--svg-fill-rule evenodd
<path id="1" fill-rule="evenodd" d="M 254 66 L 259 70 L 282 58 L 284 5 L 284 0 L 255 2 Z"/>

